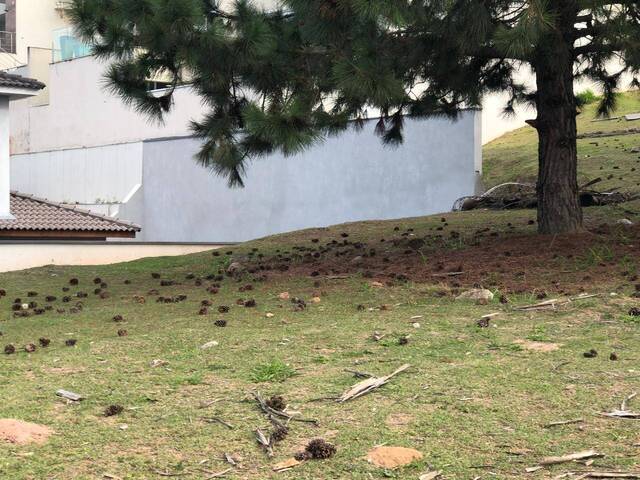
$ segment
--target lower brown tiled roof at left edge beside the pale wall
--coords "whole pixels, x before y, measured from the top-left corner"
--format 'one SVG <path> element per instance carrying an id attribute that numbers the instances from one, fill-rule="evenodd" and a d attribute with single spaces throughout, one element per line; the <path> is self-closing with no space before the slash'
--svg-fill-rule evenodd
<path id="1" fill-rule="evenodd" d="M 1 231 L 139 232 L 130 222 L 114 220 L 75 207 L 11 192 L 13 220 L 0 220 Z"/>

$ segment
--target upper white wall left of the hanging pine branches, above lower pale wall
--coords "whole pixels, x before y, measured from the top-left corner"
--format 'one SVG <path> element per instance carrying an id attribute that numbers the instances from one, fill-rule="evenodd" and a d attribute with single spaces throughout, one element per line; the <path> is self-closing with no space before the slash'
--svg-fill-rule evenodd
<path id="1" fill-rule="evenodd" d="M 105 91 L 105 65 L 84 57 L 50 66 L 49 104 L 12 102 L 12 153 L 43 152 L 183 136 L 203 111 L 188 87 L 176 92 L 174 111 L 160 125 Z"/>

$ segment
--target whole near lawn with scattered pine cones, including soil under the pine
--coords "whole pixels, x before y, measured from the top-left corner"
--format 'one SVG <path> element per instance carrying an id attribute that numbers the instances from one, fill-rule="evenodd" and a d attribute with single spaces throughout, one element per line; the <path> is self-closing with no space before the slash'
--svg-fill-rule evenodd
<path id="1" fill-rule="evenodd" d="M 637 220 L 638 210 L 638 204 L 591 209 L 588 224 L 596 229 L 623 215 Z M 640 390 L 640 317 L 628 314 L 639 304 L 632 296 L 638 229 L 541 239 L 532 235 L 533 212 L 446 217 L 296 232 L 218 256 L 0 274 L 7 291 L 0 299 L 0 342 L 18 349 L 0 354 L 0 418 L 55 431 L 43 445 L 2 443 L 0 478 L 204 479 L 232 468 L 225 478 L 418 479 L 438 470 L 444 479 L 542 479 L 640 470 L 640 420 L 599 415 Z M 424 242 L 409 243 L 415 239 Z M 534 241 L 545 255 L 536 257 L 539 265 L 524 262 Z M 505 251 L 505 245 L 514 247 Z M 483 256 L 486 262 L 474 262 Z M 247 273 L 207 280 L 232 261 Z M 456 268 L 463 274 L 438 276 Z M 161 286 L 154 273 L 175 284 Z M 108 298 L 93 293 L 96 277 L 108 284 Z M 69 284 L 72 278 L 78 286 Z M 215 283 L 221 285 L 212 294 L 207 288 Z M 494 300 L 454 299 L 474 284 L 490 288 Z M 580 291 L 601 295 L 555 310 L 514 308 Z M 78 292 L 89 296 L 78 299 Z M 294 311 L 300 309 L 280 299 L 282 292 L 303 298 L 306 308 Z M 13 316 L 15 298 L 43 306 L 47 295 L 57 297 L 49 302 L 52 311 Z M 65 295 L 73 296 L 70 302 L 62 302 Z M 177 295 L 187 299 L 156 301 Z M 508 303 L 499 301 L 502 295 Z M 256 306 L 240 306 L 239 298 Z M 199 315 L 203 300 L 212 306 Z M 71 313 L 79 301 L 81 310 Z M 229 312 L 219 314 L 219 306 Z M 479 327 L 490 313 L 499 315 Z M 124 321 L 114 322 L 116 315 Z M 215 325 L 220 319 L 226 327 Z M 382 338 L 375 341 L 374 332 Z M 23 350 L 41 337 L 51 345 Z M 65 346 L 68 339 L 76 346 Z M 212 341 L 217 344 L 201 348 Z M 597 357 L 585 358 L 591 349 Z M 367 396 L 344 404 L 327 399 L 359 381 L 347 370 L 385 375 L 405 363 L 409 370 Z M 61 388 L 86 398 L 67 403 L 56 397 Z M 318 426 L 291 423 L 269 458 L 255 440 L 257 428 L 271 427 L 254 391 L 282 395 L 290 411 Z M 124 411 L 105 417 L 110 405 Z M 629 405 L 640 410 L 640 399 Z M 233 428 L 206 420 L 212 418 Z M 576 419 L 581 422 L 546 427 Z M 336 455 L 272 471 L 314 438 L 334 444 Z M 381 444 L 415 448 L 424 457 L 384 470 L 364 459 Z M 604 455 L 592 466 L 525 473 L 542 457 L 591 448 Z M 225 453 L 238 465 L 230 466 Z"/>

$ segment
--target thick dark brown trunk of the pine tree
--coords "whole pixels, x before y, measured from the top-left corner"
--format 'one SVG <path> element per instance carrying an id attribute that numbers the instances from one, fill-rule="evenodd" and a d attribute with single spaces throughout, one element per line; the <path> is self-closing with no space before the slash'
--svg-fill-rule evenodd
<path id="1" fill-rule="evenodd" d="M 546 35 L 534 68 L 538 93 L 538 231 L 582 228 L 578 192 L 576 101 L 573 91 L 575 0 L 559 0 L 556 30 Z"/>

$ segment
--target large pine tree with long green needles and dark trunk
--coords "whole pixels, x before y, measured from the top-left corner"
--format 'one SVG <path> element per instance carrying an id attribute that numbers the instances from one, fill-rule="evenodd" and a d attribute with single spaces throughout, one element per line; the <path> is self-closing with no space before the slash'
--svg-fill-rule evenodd
<path id="1" fill-rule="evenodd" d="M 227 2 L 225 2 L 227 3 Z M 631 0 L 73 0 L 72 20 L 114 92 L 162 118 L 179 85 L 208 106 L 192 129 L 198 159 L 231 185 L 274 150 L 294 154 L 380 114 L 376 132 L 403 140 L 403 118 L 447 115 L 508 92 L 533 104 L 539 135 L 541 233 L 582 227 L 574 81 L 602 86 L 602 116 L 623 75 L 640 68 L 640 2 Z M 616 70 L 608 68 L 619 60 Z M 537 91 L 516 80 L 535 72 Z M 147 91 L 162 77 L 170 88 Z M 352 122 L 350 120 L 355 120 Z"/>

